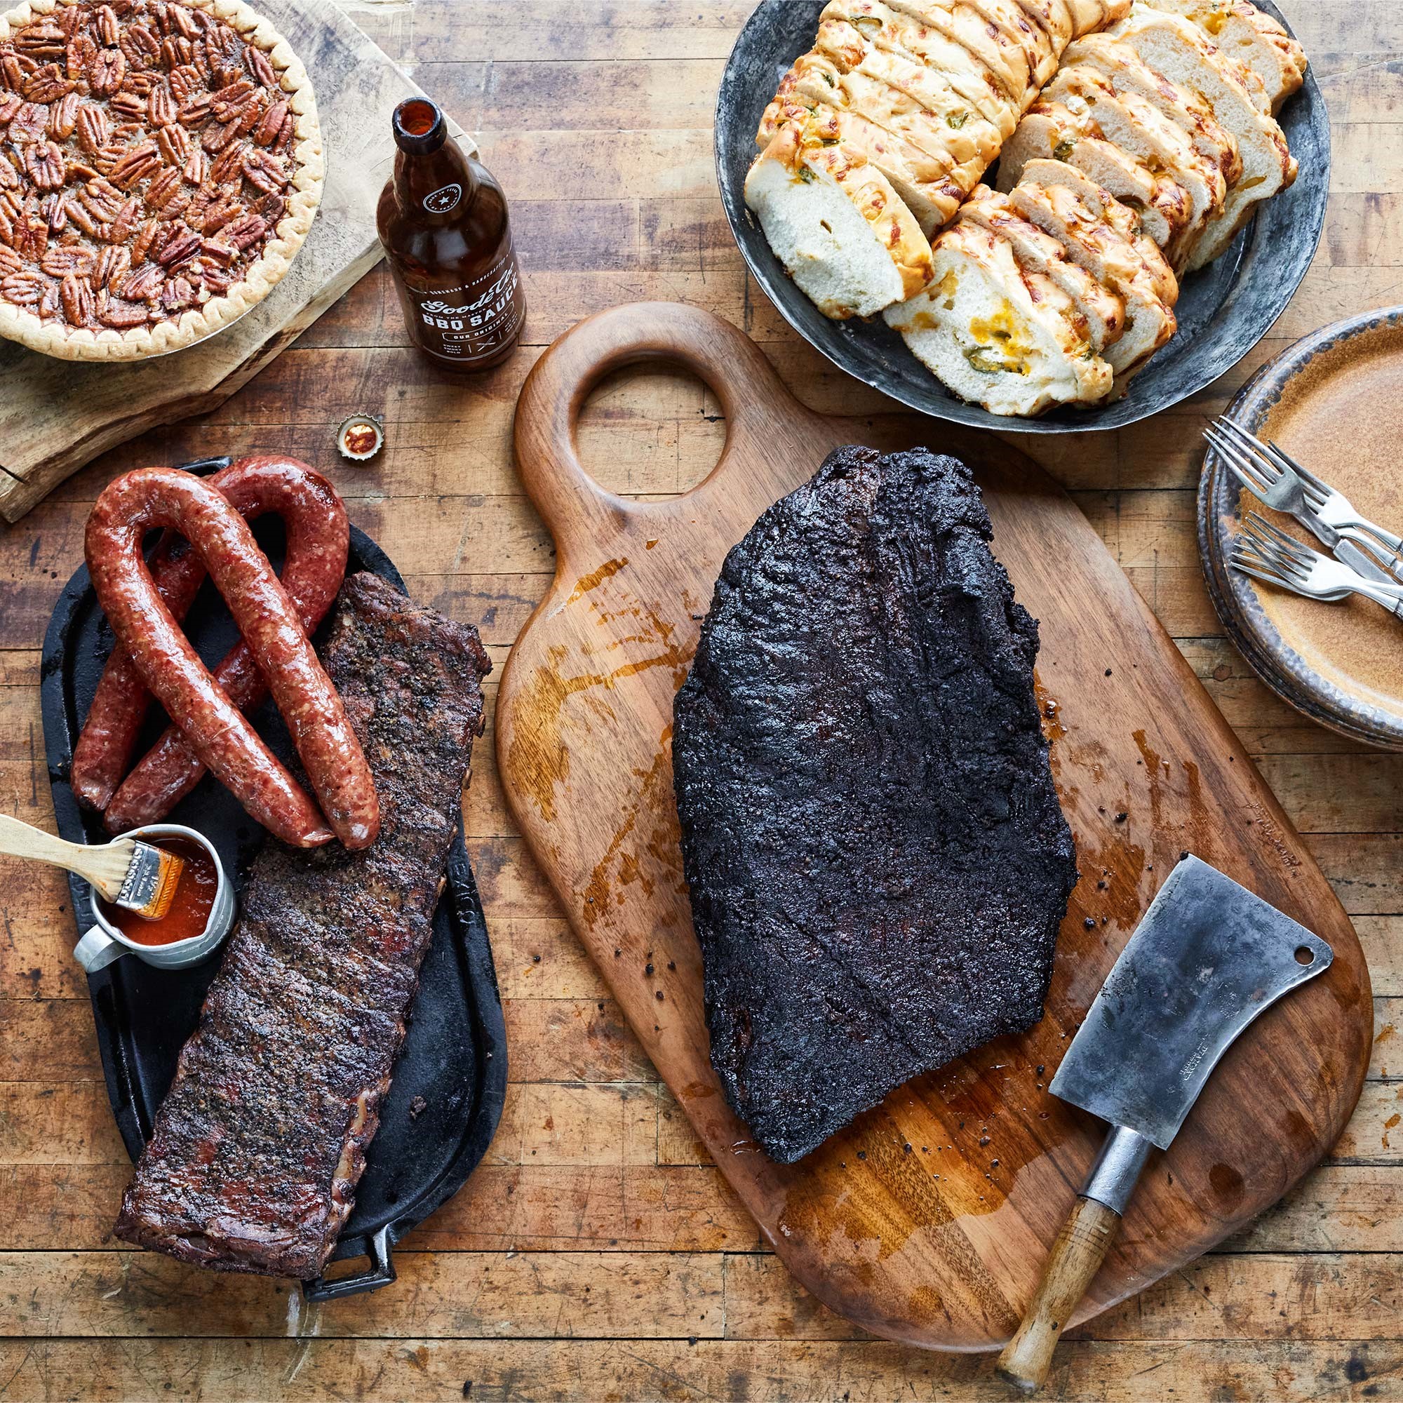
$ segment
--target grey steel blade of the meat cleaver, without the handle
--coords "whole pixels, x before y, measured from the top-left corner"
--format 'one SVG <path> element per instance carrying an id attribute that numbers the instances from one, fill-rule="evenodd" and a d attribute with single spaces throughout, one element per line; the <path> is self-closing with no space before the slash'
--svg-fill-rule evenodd
<path id="1" fill-rule="evenodd" d="M 1121 951 L 1049 1090 L 1169 1149 L 1243 1028 L 1333 958 L 1305 926 L 1186 857 Z"/>

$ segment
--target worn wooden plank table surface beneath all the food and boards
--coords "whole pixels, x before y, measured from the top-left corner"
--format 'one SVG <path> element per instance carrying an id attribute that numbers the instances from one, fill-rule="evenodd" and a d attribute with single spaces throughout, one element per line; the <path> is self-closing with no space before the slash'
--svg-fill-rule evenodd
<path id="1" fill-rule="evenodd" d="M 501 664 L 553 568 L 513 476 L 512 407 L 540 348 L 586 313 L 694 302 L 742 325 L 815 408 L 894 408 L 797 341 L 727 230 L 711 107 L 751 0 L 342 3 L 478 135 L 506 187 L 530 302 L 522 347 L 448 383 L 405 348 L 377 271 L 216 414 L 107 455 L 0 532 L 0 811 L 52 826 L 38 647 L 88 506 L 121 470 L 304 457 L 414 595 L 476 623 Z M 1376 1051 L 1330 1159 L 1219 1250 L 1069 1337 L 1049 1397 L 1403 1397 L 1403 756 L 1266 692 L 1222 637 L 1194 544 L 1202 422 L 1291 340 L 1403 303 L 1403 3 L 1282 10 L 1334 136 L 1303 288 L 1271 338 L 1179 410 L 1021 446 L 1075 492 L 1308 835 L 1372 965 Z M 386 418 L 365 469 L 334 452 L 358 410 Z M 668 494 L 704 476 L 724 434 L 696 382 L 629 373 L 595 396 L 582 438 L 605 485 Z M 286 1284 L 108 1236 L 129 1164 L 69 954 L 73 913 L 58 875 L 0 859 L 0 1399 L 1007 1399 L 991 1358 L 864 1337 L 762 1247 L 523 853 L 492 739 L 488 724 L 466 817 L 506 1005 L 506 1113 L 375 1295 L 309 1308 Z"/>

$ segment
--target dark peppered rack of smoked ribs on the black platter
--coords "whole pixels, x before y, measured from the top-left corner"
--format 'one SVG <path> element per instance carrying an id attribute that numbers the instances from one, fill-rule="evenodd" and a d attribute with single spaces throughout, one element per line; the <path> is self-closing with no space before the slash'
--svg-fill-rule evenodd
<path id="1" fill-rule="evenodd" d="M 380 797 L 379 839 L 269 839 L 180 1055 L 116 1235 L 223 1271 L 316 1277 L 355 1202 L 457 828 L 477 631 L 376 575 L 342 585 L 321 659 Z"/>

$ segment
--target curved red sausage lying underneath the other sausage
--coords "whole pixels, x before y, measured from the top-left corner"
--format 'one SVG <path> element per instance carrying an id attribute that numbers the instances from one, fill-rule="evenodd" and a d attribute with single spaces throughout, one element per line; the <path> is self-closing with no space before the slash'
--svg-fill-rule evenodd
<path id="1" fill-rule="evenodd" d="M 286 522 L 282 586 L 310 637 L 331 607 L 345 575 L 351 528 L 335 488 L 306 464 L 281 457 L 240 459 L 210 477 L 209 483 L 229 498 L 246 521 L 272 512 Z M 199 568 L 203 575 L 203 565 Z M 153 575 L 159 588 L 161 577 L 157 571 Z M 130 675 L 140 692 L 149 696 L 135 669 Z M 215 682 L 244 713 L 268 696 L 268 685 L 243 640 L 215 669 Z M 167 727 L 108 803 L 108 829 L 123 833 L 163 819 L 203 774 L 205 766 L 184 732 L 174 725 Z"/>

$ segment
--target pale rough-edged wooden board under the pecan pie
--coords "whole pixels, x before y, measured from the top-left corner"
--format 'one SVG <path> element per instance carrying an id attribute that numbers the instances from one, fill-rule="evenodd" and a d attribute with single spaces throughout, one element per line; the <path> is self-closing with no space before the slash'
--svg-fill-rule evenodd
<path id="1" fill-rule="evenodd" d="M 0 516 L 18 521 L 98 453 L 223 404 L 380 258 L 375 206 L 390 175 L 390 114 L 419 88 L 335 0 L 255 0 L 311 76 L 325 154 L 321 208 L 268 296 L 205 341 L 114 365 L 0 341 Z M 456 125 L 450 130 L 474 150 Z"/>

